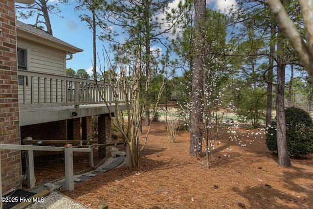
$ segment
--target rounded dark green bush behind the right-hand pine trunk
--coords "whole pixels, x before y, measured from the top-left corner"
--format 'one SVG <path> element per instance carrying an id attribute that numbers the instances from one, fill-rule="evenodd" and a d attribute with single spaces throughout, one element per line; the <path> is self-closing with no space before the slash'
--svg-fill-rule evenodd
<path id="1" fill-rule="evenodd" d="M 277 153 L 276 120 L 267 129 L 266 145 Z M 313 151 L 313 120 L 306 111 L 295 107 L 286 109 L 286 140 L 292 158 Z"/>

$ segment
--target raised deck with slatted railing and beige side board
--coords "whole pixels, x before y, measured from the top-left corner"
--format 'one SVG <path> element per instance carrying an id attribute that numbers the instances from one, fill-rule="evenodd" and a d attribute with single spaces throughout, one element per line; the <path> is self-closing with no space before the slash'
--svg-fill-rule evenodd
<path id="1" fill-rule="evenodd" d="M 110 83 L 27 70 L 19 70 L 19 76 L 23 81 L 19 85 L 21 126 L 115 111 L 116 103 Z M 130 86 L 126 94 L 119 93 L 121 111 L 126 110 L 130 96 Z"/>

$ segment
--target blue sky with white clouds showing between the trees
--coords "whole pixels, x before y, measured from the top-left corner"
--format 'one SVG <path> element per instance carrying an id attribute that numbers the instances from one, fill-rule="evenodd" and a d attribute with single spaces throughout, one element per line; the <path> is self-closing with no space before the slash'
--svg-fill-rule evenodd
<path id="1" fill-rule="evenodd" d="M 69 0 L 69 5 L 58 4 L 58 7 L 61 10 L 59 16 L 50 14 L 50 22 L 52 26 L 53 36 L 67 42 L 70 45 L 76 46 L 83 49 L 83 52 L 78 52 L 73 54 L 71 60 L 67 60 L 67 68 L 71 68 L 75 71 L 79 69 L 86 70 L 90 75 L 92 74 L 92 32 L 89 30 L 86 22 L 81 22 L 79 14 L 74 11 L 74 6 L 76 4 L 70 3 L 72 0 Z M 177 5 L 174 0 L 171 3 L 171 6 Z M 207 7 L 220 10 L 224 12 L 225 9 L 232 4 L 236 4 L 235 0 L 207 0 Z M 23 23 L 34 24 L 35 19 L 22 20 Z M 103 47 L 108 47 L 107 43 L 103 43 L 97 39 L 97 51 L 99 56 L 102 56 Z M 160 48 L 162 51 L 165 51 L 163 46 L 151 46 L 153 48 Z M 108 48 L 107 48 L 108 49 Z M 98 62 L 98 61 L 97 61 Z M 99 66 L 97 66 L 99 67 Z"/>

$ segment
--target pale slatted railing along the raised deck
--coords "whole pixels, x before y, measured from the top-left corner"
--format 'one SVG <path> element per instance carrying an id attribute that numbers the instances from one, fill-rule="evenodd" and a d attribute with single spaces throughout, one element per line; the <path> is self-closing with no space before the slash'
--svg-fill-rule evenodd
<path id="1" fill-rule="evenodd" d="M 19 76 L 23 76 L 23 85 L 19 85 L 21 109 L 104 104 L 101 95 L 109 104 L 115 103 L 112 87 L 108 82 L 98 81 L 96 83 L 94 80 L 27 70 L 19 70 Z M 127 87 L 126 92 L 126 95 L 119 93 L 120 103 L 125 103 L 125 96 L 130 98 L 130 86 Z"/>

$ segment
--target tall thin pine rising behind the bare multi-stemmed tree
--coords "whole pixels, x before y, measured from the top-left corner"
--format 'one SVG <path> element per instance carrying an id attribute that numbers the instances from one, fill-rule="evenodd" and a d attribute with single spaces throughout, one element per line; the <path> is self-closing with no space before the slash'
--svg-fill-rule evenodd
<path id="1" fill-rule="evenodd" d="M 168 0 L 109 0 L 103 4 L 102 25 L 104 33 L 100 39 L 110 41 L 112 50 L 144 51 L 145 79 L 152 73 L 153 54 L 159 53 L 161 44 L 167 47 L 168 33 L 184 14 L 185 4 L 179 2 L 170 8 Z M 141 53 L 138 53 L 141 54 Z M 149 91 L 144 92 L 146 125 L 149 125 Z M 142 95 L 143 96 L 143 95 Z"/>

